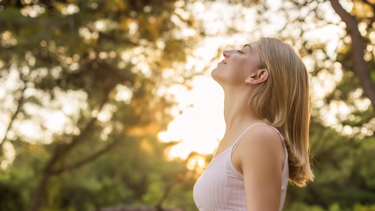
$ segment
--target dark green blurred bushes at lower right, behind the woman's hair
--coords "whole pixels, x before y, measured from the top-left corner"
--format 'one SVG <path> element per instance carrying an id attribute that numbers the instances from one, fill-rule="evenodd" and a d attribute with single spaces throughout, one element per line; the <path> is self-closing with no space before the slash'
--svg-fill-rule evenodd
<path id="1" fill-rule="evenodd" d="M 374 169 L 373 137 L 347 139 L 313 123 L 311 141 L 316 179 L 306 188 L 288 187 L 285 208 L 304 202 L 327 210 L 353 210 L 356 204 L 374 203 L 375 186 L 369 174 Z M 342 209 L 333 209 L 334 205 Z"/>

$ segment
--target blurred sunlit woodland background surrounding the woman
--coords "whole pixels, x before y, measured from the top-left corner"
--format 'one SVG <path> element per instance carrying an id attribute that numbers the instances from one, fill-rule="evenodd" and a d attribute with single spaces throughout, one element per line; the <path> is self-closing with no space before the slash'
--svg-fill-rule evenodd
<path id="1" fill-rule="evenodd" d="M 374 0 L 0 0 L 0 210 L 196 211 L 222 51 L 299 51 L 315 181 L 285 211 L 375 210 Z M 105 208 L 105 209 L 104 209 Z"/>

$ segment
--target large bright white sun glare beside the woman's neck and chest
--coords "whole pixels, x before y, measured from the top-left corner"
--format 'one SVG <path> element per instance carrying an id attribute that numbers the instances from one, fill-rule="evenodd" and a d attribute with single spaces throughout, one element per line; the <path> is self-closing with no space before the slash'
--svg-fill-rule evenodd
<path id="1" fill-rule="evenodd" d="M 186 159 L 192 151 L 211 154 L 224 135 L 221 87 L 208 77 L 196 77 L 194 81 L 194 88 L 180 93 L 177 98 L 181 104 L 194 106 L 176 116 L 167 131 L 159 133 L 163 142 L 181 141 L 171 148 L 170 157 Z"/>

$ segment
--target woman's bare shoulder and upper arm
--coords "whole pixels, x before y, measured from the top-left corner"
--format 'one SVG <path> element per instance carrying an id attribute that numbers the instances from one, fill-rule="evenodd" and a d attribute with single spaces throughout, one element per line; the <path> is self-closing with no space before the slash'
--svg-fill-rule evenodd
<path id="1" fill-rule="evenodd" d="M 253 128 L 252 128 L 253 129 Z M 280 204 L 284 146 L 271 127 L 244 134 L 237 146 L 248 211 L 277 211 Z"/>

